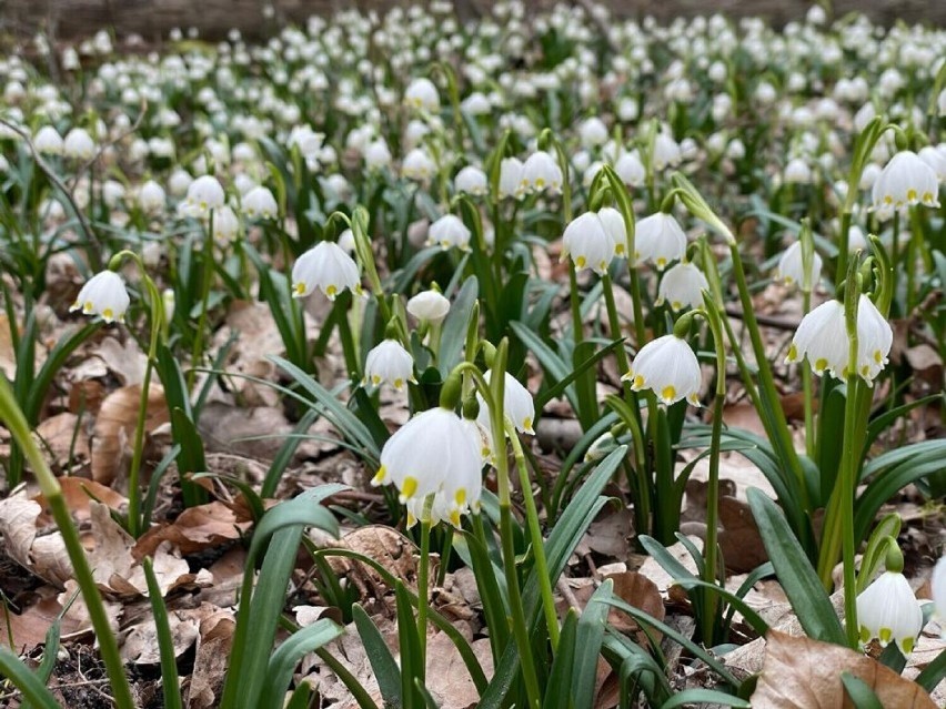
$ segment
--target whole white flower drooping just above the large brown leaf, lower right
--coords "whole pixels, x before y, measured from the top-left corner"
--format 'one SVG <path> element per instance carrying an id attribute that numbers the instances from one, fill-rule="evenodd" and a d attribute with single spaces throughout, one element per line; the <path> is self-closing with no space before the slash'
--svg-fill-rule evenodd
<path id="1" fill-rule="evenodd" d="M 909 655 L 923 628 L 923 610 L 904 575 L 884 571 L 857 596 L 857 620 L 862 642 L 877 638 L 887 647 L 894 641 Z"/>

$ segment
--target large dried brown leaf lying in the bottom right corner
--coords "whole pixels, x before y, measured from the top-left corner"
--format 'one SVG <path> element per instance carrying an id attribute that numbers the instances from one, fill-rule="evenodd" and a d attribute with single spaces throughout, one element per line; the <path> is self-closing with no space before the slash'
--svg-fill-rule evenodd
<path id="1" fill-rule="evenodd" d="M 922 687 L 876 660 L 838 645 L 777 630 L 766 635 L 765 664 L 752 703 L 767 709 L 853 707 L 841 681 L 844 671 L 870 687 L 884 707 L 935 709 Z"/>

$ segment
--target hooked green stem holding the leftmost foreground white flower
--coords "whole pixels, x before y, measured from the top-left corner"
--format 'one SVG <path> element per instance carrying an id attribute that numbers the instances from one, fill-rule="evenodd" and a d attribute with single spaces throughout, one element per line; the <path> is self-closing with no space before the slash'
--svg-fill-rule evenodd
<path id="1" fill-rule="evenodd" d="M 134 442 L 131 448 L 131 467 L 128 472 L 128 533 L 138 538 L 142 531 L 141 519 L 141 489 L 139 485 L 141 475 L 141 457 L 144 454 L 144 428 L 148 418 L 148 402 L 151 393 L 151 375 L 154 363 L 158 361 L 158 346 L 164 332 L 164 298 L 154 281 L 148 275 L 141 256 L 132 251 L 121 251 L 115 254 L 109 265 L 117 269 L 121 260 L 129 256 L 138 266 L 141 280 L 148 291 L 148 300 L 151 306 L 151 341 L 148 346 L 148 359 L 144 363 L 144 378 L 141 383 L 141 398 L 138 404 L 138 421 L 134 426 Z"/>

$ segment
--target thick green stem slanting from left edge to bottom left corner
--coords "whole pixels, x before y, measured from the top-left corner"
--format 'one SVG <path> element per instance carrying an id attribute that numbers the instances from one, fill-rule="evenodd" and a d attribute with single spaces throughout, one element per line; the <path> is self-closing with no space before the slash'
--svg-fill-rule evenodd
<path id="1" fill-rule="evenodd" d="M 59 531 L 62 535 L 66 551 L 69 554 L 69 560 L 76 574 L 76 581 L 79 584 L 79 589 L 82 591 L 82 599 L 89 609 L 89 617 L 92 621 L 92 628 L 95 631 L 95 639 L 99 641 L 99 655 L 109 675 L 109 683 L 115 706 L 119 709 L 134 709 L 134 699 L 131 696 L 131 688 L 128 685 L 118 644 L 109 626 L 109 617 L 105 614 L 102 597 L 99 594 L 95 579 L 92 577 L 92 569 L 89 566 L 85 549 L 79 540 L 79 533 L 76 530 L 76 525 L 72 523 L 72 517 L 69 514 L 69 507 L 62 495 L 62 488 L 49 469 L 46 458 L 43 458 L 36 439 L 32 437 L 26 416 L 23 416 L 22 409 L 17 404 L 17 397 L 6 376 L 0 376 L 0 421 L 7 425 L 10 435 L 19 444 L 30 467 L 32 467 L 40 490 L 49 504 L 52 518 L 56 520 Z"/>

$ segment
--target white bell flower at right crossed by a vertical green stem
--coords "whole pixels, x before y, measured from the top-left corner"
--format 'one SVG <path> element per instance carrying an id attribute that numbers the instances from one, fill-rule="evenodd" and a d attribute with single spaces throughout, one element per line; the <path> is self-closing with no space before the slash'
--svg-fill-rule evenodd
<path id="1" fill-rule="evenodd" d="M 866 295 L 857 305 L 857 374 L 868 384 L 887 364 L 894 341 L 890 324 Z M 808 358 L 812 369 L 821 376 L 825 372 L 837 379 L 847 376 L 849 341 L 839 301 L 827 301 L 802 318 L 785 362 Z"/>

